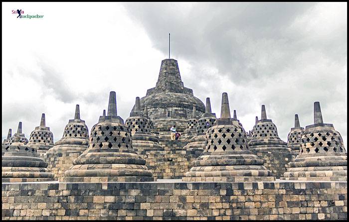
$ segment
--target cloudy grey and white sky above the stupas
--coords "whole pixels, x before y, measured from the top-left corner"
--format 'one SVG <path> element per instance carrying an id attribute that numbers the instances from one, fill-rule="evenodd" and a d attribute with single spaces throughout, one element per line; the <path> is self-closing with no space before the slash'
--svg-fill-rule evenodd
<path id="1" fill-rule="evenodd" d="M 287 141 L 319 101 L 347 148 L 346 2 L 2 3 L 2 139 L 18 121 L 29 137 L 44 112 L 57 141 L 76 104 L 91 129 L 110 91 L 125 120 L 155 87 L 169 32 L 184 86 L 217 117 L 223 92 L 246 130 L 265 104 Z"/>

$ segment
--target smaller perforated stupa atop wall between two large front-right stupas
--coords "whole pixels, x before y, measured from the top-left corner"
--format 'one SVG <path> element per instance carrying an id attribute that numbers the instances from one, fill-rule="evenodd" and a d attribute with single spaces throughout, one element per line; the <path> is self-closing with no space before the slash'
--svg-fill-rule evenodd
<path id="1" fill-rule="evenodd" d="M 271 119 L 267 119 L 265 106 L 262 105 L 261 119 L 253 126 L 250 150 L 255 151 L 290 151 L 287 143 L 280 139 L 276 125 Z"/>

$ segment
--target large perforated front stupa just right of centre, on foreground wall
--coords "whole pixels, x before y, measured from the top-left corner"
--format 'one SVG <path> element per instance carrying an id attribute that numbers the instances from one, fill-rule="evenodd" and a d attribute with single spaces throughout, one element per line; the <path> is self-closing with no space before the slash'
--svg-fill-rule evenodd
<path id="1" fill-rule="evenodd" d="M 230 117 L 228 95 L 223 93 L 221 116 L 206 132 L 206 146 L 183 181 L 254 182 L 275 177 L 248 149 L 247 135 L 236 118 Z"/>

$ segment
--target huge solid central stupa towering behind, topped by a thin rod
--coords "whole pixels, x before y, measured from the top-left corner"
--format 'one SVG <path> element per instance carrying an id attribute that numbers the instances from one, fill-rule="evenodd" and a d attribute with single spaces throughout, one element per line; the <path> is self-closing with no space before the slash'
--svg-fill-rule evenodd
<path id="1" fill-rule="evenodd" d="M 161 62 L 156 87 L 149 89 L 140 102 L 141 111 L 147 106 L 149 118 L 159 132 L 169 132 L 173 125 L 177 131 L 184 131 L 193 106 L 199 116 L 205 111 L 203 103 L 193 96 L 192 89 L 184 87 L 177 60 L 174 59 Z"/>

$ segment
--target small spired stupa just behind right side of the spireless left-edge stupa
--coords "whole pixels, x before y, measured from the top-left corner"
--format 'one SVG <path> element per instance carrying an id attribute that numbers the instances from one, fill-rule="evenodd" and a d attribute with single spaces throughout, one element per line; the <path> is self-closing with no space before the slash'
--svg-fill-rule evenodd
<path id="1" fill-rule="evenodd" d="M 42 157 L 49 148 L 54 146 L 50 127 L 45 126 L 45 113 L 41 114 L 40 126 L 36 126 L 34 131 L 30 133 L 27 146 L 35 148 Z"/>

